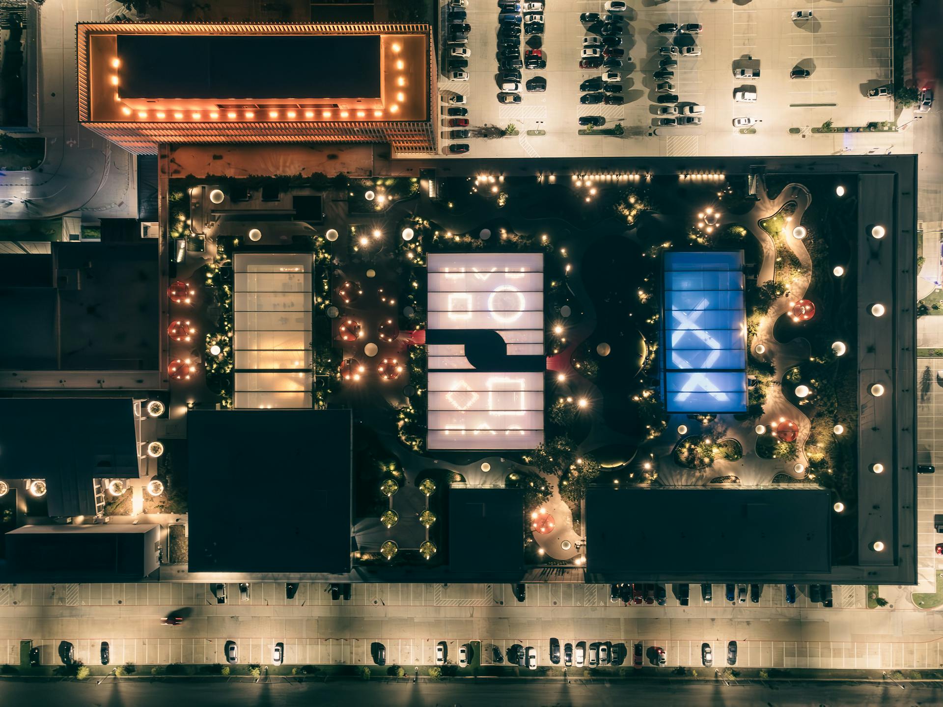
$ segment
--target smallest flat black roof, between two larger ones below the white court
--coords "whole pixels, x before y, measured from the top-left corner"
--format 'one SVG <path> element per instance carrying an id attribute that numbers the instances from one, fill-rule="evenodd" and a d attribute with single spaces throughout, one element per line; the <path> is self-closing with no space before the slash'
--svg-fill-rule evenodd
<path id="1" fill-rule="evenodd" d="M 449 489 L 451 572 L 516 572 L 523 567 L 523 489 Z"/>

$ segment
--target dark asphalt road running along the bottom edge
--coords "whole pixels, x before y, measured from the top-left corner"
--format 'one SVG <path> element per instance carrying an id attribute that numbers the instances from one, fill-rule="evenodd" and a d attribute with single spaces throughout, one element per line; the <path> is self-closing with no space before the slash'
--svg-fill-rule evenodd
<path id="1" fill-rule="evenodd" d="M 790 682 L 725 686 L 713 682 L 622 682 L 566 685 L 560 682 L 419 683 L 412 682 L 0 682 L 5 704 L 70 707 L 166 707 L 187 699 L 209 705 L 384 704 L 494 707 L 500 705 L 657 704 L 730 707 L 836 707 L 837 705 L 932 705 L 943 700 L 943 687 L 906 689 L 888 684 Z"/>

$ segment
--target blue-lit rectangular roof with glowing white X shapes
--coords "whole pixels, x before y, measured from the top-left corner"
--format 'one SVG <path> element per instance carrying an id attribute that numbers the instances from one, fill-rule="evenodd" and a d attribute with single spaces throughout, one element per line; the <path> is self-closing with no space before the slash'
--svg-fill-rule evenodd
<path id="1" fill-rule="evenodd" d="M 665 254 L 665 403 L 670 413 L 747 409 L 743 252 Z"/>

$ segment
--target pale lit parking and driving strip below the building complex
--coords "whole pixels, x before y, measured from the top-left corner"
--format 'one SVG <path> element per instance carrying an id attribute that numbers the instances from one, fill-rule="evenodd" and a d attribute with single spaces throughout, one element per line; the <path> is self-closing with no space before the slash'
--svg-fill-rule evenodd
<path id="1" fill-rule="evenodd" d="M 388 664 L 429 665 L 438 641 L 449 655 L 482 642 L 506 655 L 513 644 L 538 649 L 550 665 L 549 641 L 612 641 L 668 652 L 669 666 L 700 666 L 701 644 L 724 656 L 739 644 L 741 667 L 922 669 L 943 666 L 943 616 L 900 604 L 862 608 L 861 587 L 835 587 L 835 608 L 804 600 L 785 605 L 781 587 L 764 589 L 759 605 L 722 600 L 706 606 L 692 587 L 692 605 L 622 606 L 605 585 L 530 585 L 528 600 L 513 600 L 504 585 L 355 584 L 350 601 L 330 601 L 323 584 L 302 584 L 294 600 L 284 584 L 253 583 L 252 599 L 216 604 L 203 584 L 3 585 L 0 587 L 0 661 L 19 662 L 19 641 L 41 647 L 43 664 L 58 663 L 58 643 L 71 641 L 76 657 L 98 664 L 108 641 L 113 664 L 223 663 L 225 641 L 237 642 L 240 663 L 271 661 L 283 642 L 286 664 L 372 665 L 370 647 L 387 647 Z M 229 597 L 239 597 L 235 586 Z M 15 601 L 15 603 L 13 603 Z M 121 601 L 121 603 L 118 603 Z M 504 601 L 504 604 L 500 603 Z M 84 602 L 84 603 L 83 603 Z M 160 618 L 189 607 L 180 626 Z M 848 608 L 842 608 L 848 607 Z"/>

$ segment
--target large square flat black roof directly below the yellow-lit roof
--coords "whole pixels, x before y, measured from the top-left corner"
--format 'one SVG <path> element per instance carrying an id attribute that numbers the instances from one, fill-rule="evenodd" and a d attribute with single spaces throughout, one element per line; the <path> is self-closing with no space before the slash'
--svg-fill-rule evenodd
<path id="1" fill-rule="evenodd" d="M 192 410 L 191 572 L 348 572 L 350 410 Z"/>

